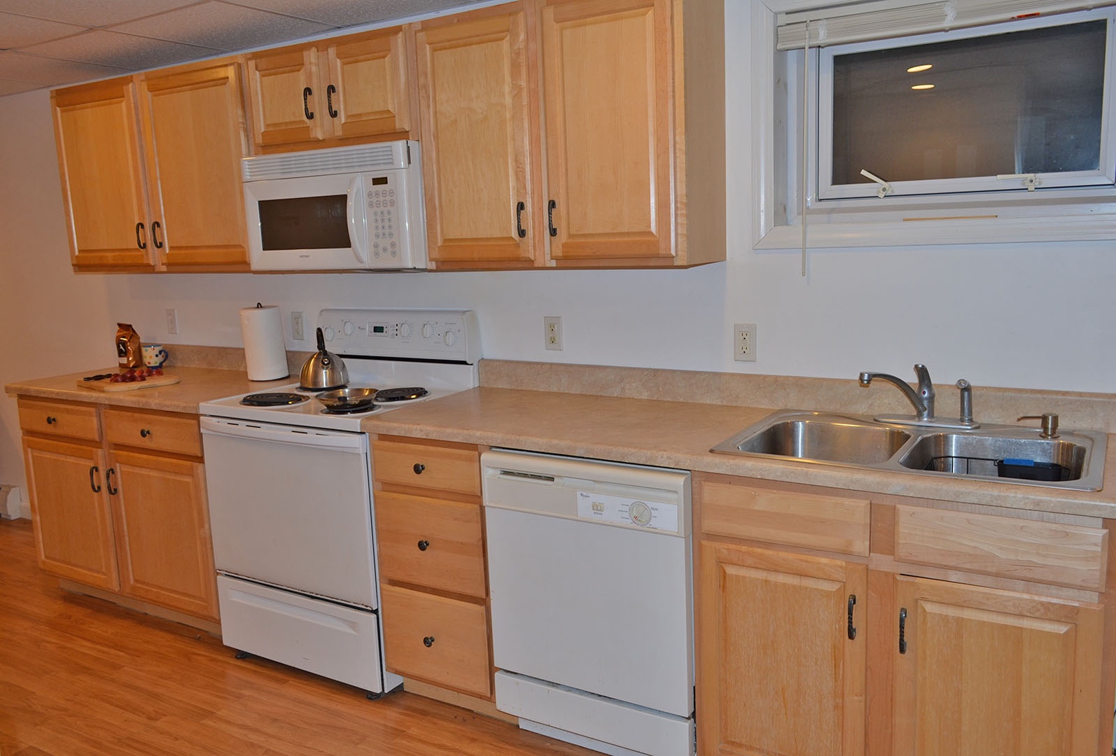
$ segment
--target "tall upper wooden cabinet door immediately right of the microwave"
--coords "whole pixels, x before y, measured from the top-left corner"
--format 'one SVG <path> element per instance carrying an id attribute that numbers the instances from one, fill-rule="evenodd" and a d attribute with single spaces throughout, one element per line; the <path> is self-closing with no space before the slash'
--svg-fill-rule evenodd
<path id="1" fill-rule="evenodd" d="M 508 8 L 416 36 L 426 238 L 442 268 L 542 261 L 536 64 L 527 12 Z"/>

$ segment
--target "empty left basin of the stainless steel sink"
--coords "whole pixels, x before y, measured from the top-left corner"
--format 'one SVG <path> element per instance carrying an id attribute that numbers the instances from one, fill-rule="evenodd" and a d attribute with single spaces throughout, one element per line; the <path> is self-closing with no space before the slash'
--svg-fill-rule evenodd
<path id="1" fill-rule="evenodd" d="M 754 426 L 753 426 L 754 428 Z M 889 459 L 911 438 L 892 426 L 817 413 L 749 428 L 727 444 L 738 452 L 872 465 Z M 714 447 L 714 452 L 728 449 Z"/>

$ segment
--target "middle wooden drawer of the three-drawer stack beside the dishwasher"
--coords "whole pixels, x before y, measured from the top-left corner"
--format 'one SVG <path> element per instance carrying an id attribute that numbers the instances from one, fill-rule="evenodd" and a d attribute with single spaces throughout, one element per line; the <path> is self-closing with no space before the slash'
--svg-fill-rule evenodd
<path id="1" fill-rule="evenodd" d="M 376 539 L 384 580 L 487 595 L 479 504 L 377 492 Z"/>

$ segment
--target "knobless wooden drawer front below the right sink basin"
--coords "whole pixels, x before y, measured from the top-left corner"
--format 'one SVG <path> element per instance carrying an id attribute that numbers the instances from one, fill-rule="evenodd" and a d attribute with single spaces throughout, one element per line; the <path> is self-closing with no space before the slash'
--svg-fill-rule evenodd
<path id="1" fill-rule="evenodd" d="M 1097 527 L 901 505 L 895 507 L 895 559 L 1103 591 L 1108 533 Z"/>

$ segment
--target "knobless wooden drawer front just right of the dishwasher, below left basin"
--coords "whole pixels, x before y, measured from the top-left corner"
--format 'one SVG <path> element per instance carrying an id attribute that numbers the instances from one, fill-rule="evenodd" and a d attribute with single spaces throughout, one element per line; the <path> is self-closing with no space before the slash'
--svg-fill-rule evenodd
<path id="1" fill-rule="evenodd" d="M 866 498 L 716 482 L 702 483 L 699 495 L 702 533 L 868 555 L 872 504 Z"/>

